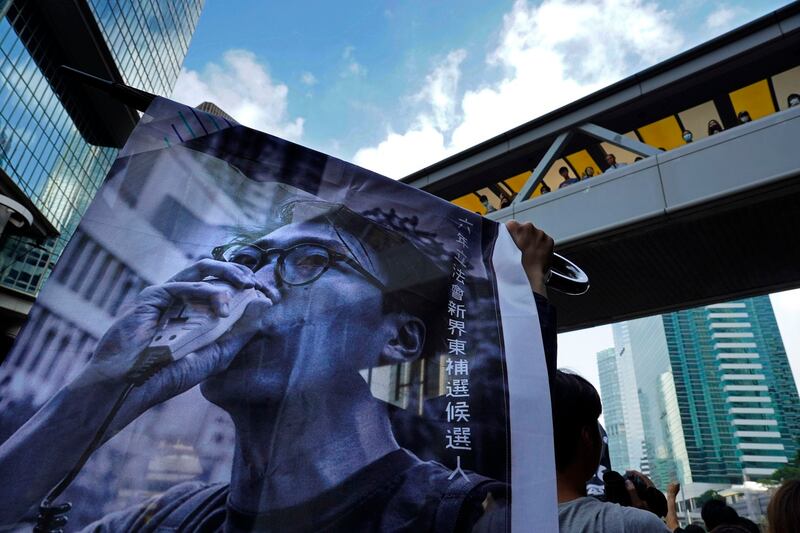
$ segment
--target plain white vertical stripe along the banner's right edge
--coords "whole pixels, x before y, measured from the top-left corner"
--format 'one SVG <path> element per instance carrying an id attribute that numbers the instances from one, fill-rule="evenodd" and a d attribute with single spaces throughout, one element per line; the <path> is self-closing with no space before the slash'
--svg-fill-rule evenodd
<path id="1" fill-rule="evenodd" d="M 536 302 L 522 254 L 500 225 L 492 257 L 511 419 L 511 531 L 558 531 L 550 387 Z"/>

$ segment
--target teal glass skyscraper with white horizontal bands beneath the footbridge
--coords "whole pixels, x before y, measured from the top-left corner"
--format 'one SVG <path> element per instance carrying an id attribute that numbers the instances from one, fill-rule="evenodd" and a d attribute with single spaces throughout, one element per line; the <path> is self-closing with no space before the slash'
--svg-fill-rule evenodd
<path id="1" fill-rule="evenodd" d="M 793 457 L 800 399 L 768 296 L 625 326 L 651 476 L 687 497 L 770 475 Z"/>

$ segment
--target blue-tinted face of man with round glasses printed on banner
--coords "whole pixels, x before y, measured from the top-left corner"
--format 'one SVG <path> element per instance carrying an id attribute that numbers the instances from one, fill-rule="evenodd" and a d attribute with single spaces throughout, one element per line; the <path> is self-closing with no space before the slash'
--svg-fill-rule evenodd
<path id="1" fill-rule="evenodd" d="M 387 343 L 405 321 L 414 321 L 386 311 L 388 276 L 376 256 L 326 222 L 288 224 L 232 250 L 228 260 L 254 269 L 275 301 L 262 317 L 262 333 L 227 371 L 203 384 L 203 394 L 224 407 L 363 384 L 358 371 L 385 364 Z M 421 336 L 411 343 L 418 345 L 418 356 L 424 326 L 412 330 Z"/>

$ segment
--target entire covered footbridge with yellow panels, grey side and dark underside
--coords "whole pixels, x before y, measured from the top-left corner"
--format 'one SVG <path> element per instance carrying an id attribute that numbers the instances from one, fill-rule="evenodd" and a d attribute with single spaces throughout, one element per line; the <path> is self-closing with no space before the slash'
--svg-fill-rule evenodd
<path id="1" fill-rule="evenodd" d="M 564 331 L 800 286 L 799 47 L 793 4 L 403 181 L 552 235 Z"/>

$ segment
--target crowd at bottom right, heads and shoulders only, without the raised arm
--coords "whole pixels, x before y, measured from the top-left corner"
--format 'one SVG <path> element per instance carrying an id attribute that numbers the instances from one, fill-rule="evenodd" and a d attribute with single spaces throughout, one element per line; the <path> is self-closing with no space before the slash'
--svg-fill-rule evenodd
<path id="1" fill-rule="evenodd" d="M 600 396 L 587 380 L 556 371 L 551 381 L 559 526 L 562 533 L 642 531 L 663 533 L 797 533 L 800 532 L 800 480 L 784 482 L 772 496 L 762 528 L 740 516 L 725 500 L 712 498 L 701 510 L 703 524 L 681 527 L 677 496 L 671 483 L 666 496 L 644 474 L 607 470 L 602 494 L 587 495 L 586 484 L 601 461 L 598 428 Z M 613 466 L 613 465 L 612 465 Z"/>

